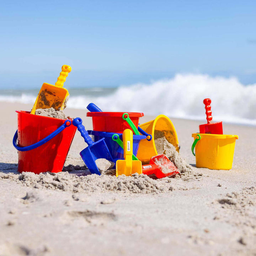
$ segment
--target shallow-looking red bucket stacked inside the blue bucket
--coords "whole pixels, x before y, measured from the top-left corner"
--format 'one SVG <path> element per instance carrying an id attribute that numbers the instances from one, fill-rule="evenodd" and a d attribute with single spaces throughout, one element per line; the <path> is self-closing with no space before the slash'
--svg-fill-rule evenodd
<path id="1" fill-rule="evenodd" d="M 92 126 L 98 132 L 123 133 L 125 129 L 131 129 L 127 121 L 123 119 L 123 114 L 128 113 L 129 118 L 138 129 L 139 118 L 143 113 L 136 112 L 87 112 L 86 116 L 92 117 Z"/>

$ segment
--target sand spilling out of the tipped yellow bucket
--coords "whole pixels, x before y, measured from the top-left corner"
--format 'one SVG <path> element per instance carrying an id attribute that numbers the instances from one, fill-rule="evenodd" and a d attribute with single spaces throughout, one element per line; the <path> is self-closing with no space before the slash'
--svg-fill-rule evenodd
<path id="1" fill-rule="evenodd" d="M 164 135 L 164 132 L 160 130 L 155 130 L 155 147 L 158 154 L 165 154 L 177 167 L 177 169 L 182 172 L 192 171 L 191 165 L 189 165 L 185 159 L 183 159 L 180 154 L 176 151 L 174 145 L 172 145 Z"/>

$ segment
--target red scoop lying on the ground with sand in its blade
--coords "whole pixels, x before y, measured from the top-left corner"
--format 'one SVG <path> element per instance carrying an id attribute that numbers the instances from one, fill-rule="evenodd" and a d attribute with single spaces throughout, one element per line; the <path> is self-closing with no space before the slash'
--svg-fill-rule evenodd
<path id="1" fill-rule="evenodd" d="M 146 175 L 154 174 L 157 178 L 164 178 L 179 174 L 177 167 L 166 155 L 152 156 L 148 165 L 142 166 L 142 173 Z"/>

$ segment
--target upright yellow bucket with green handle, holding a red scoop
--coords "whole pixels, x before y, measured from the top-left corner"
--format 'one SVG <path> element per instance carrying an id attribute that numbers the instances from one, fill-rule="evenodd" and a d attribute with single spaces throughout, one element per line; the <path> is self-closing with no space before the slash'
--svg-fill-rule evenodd
<path id="1" fill-rule="evenodd" d="M 196 148 L 196 167 L 230 170 L 238 135 L 193 133 L 192 153 Z"/>

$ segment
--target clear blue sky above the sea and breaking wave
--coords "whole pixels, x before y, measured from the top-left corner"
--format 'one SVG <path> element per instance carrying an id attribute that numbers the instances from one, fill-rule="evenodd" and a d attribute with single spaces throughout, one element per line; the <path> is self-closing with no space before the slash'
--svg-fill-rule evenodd
<path id="1" fill-rule="evenodd" d="M 176 73 L 256 83 L 255 1 L 3 1 L 0 88 L 118 86 Z"/>

